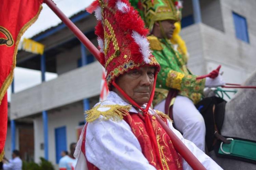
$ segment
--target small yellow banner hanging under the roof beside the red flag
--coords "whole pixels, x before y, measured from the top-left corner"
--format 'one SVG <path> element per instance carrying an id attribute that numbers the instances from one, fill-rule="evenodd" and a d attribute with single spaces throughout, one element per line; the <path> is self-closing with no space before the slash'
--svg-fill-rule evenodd
<path id="1" fill-rule="evenodd" d="M 34 54 L 43 54 L 44 53 L 44 45 L 34 41 L 32 39 L 24 38 L 22 49 L 31 52 Z"/>

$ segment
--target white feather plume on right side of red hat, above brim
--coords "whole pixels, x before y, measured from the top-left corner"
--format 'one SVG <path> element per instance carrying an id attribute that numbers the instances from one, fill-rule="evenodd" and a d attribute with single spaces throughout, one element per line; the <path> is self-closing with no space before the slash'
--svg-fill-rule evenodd
<path id="1" fill-rule="evenodd" d="M 143 56 L 143 60 L 146 64 L 150 63 L 150 44 L 147 40 L 147 38 L 145 36 L 141 36 L 138 32 L 136 31 L 132 31 L 131 34 L 132 38 L 134 39 L 134 41 L 139 45 L 140 47 L 140 52 Z"/>

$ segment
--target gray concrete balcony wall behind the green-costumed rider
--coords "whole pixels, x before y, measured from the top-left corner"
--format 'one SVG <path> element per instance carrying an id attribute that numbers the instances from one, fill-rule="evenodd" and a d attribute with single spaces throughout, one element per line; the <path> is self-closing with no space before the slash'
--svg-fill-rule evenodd
<path id="1" fill-rule="evenodd" d="M 181 33 L 190 54 L 188 67 L 194 74 L 207 74 L 221 64 L 225 82 L 242 83 L 255 70 L 256 44 L 244 43 L 234 34 L 203 23 L 186 27 Z"/>

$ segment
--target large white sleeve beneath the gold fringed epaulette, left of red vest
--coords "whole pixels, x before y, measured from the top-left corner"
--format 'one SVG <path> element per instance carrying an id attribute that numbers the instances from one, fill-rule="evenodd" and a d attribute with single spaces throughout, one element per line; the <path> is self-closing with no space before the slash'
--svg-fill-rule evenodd
<path id="1" fill-rule="evenodd" d="M 88 123 L 85 152 L 87 160 L 99 169 L 155 170 L 144 157 L 140 143 L 124 121 Z"/>

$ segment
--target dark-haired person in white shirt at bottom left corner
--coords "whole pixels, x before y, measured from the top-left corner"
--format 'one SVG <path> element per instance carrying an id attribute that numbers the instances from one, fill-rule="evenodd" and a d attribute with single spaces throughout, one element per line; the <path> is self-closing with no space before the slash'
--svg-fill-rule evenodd
<path id="1" fill-rule="evenodd" d="M 3 170 L 21 170 L 22 160 L 20 159 L 18 150 L 14 150 L 12 153 L 12 159 L 3 159 Z"/>

